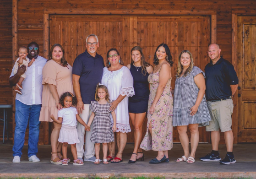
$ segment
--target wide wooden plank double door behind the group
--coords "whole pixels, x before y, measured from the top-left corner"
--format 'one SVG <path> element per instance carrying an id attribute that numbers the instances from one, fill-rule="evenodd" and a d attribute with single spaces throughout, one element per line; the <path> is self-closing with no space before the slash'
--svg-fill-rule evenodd
<path id="1" fill-rule="evenodd" d="M 78 54 L 85 51 L 87 36 L 94 33 L 99 38 L 98 54 L 106 60 L 110 48 L 117 48 L 125 65 L 131 63 L 131 48 L 139 45 L 147 62 L 153 65 L 153 56 L 160 43 L 167 43 L 173 56 L 172 87 L 174 88 L 177 60 L 182 50 L 188 49 L 196 66 L 204 70 L 209 62 L 207 46 L 209 38 L 208 16 L 50 16 L 49 47 L 60 43 L 65 58 L 72 65 Z M 143 125 L 145 134 L 147 119 Z M 174 128 L 174 142 L 179 142 Z M 200 128 L 200 142 L 208 142 L 205 127 Z M 133 131 L 127 142 L 134 142 Z"/>

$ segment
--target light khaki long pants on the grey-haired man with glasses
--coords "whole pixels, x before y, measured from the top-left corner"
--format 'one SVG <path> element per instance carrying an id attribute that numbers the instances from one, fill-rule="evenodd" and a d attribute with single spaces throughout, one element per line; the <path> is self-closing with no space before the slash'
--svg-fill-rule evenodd
<path id="1" fill-rule="evenodd" d="M 82 114 L 79 114 L 79 115 L 83 119 L 85 124 L 88 123 L 88 120 L 91 114 L 92 114 L 92 111 L 90 110 L 90 104 L 84 104 L 84 110 L 82 111 Z M 76 129 L 77 129 L 78 139 L 80 143 L 76 144 L 76 151 L 77 151 L 77 157 L 79 158 L 82 158 L 84 156 L 84 159 L 85 158 L 88 159 L 93 157 L 95 154 L 94 143 L 91 142 L 93 123 L 90 127 L 91 127 L 91 131 L 85 131 L 84 130 L 85 127 L 77 121 Z M 86 132 L 86 135 L 85 135 L 85 132 Z M 83 150 L 84 135 L 86 136 L 85 151 Z"/>

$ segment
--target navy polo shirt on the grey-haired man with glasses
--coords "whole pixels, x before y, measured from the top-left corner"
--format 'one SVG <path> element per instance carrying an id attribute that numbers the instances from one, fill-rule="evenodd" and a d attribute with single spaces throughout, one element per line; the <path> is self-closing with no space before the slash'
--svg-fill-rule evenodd
<path id="1" fill-rule="evenodd" d="M 76 57 L 72 73 L 80 76 L 80 92 L 84 104 L 95 101 L 96 86 L 101 82 L 104 66 L 102 56 L 96 54 L 93 57 L 87 50 Z"/>

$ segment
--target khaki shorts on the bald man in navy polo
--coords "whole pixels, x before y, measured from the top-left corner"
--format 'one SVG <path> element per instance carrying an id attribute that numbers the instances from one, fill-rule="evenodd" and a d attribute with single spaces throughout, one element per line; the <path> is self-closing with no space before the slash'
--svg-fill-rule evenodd
<path id="1" fill-rule="evenodd" d="M 226 132 L 231 129 L 233 113 L 233 100 L 226 99 L 223 101 L 210 102 L 207 101 L 207 107 L 209 109 L 212 120 L 210 125 L 206 126 L 206 131 L 219 131 Z"/>

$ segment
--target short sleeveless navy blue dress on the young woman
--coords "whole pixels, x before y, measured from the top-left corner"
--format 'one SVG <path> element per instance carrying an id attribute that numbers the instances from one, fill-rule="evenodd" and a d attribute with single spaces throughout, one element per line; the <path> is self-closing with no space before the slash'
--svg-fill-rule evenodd
<path id="1" fill-rule="evenodd" d="M 143 75 L 142 67 L 135 67 L 133 64 L 131 64 L 130 71 L 133 77 L 135 95 L 129 97 L 129 113 L 145 113 L 147 112 L 149 98 L 149 86 L 147 81 L 149 74 L 146 71 L 146 75 Z"/>

